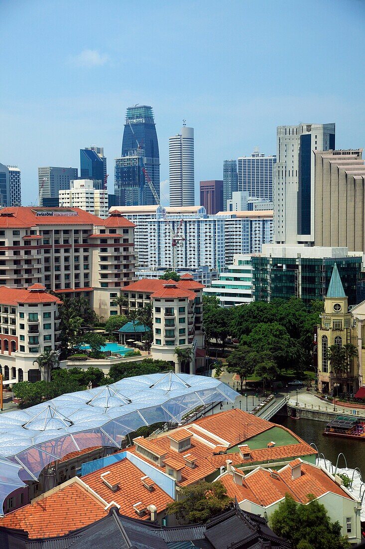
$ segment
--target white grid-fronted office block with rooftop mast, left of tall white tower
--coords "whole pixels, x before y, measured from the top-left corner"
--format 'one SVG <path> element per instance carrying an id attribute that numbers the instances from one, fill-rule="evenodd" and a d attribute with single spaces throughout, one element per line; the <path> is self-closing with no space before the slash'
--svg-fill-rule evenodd
<path id="1" fill-rule="evenodd" d="M 256 148 L 251 156 L 237 160 L 238 191 L 249 197 L 272 201 L 272 174 L 276 156 L 265 156 Z"/>

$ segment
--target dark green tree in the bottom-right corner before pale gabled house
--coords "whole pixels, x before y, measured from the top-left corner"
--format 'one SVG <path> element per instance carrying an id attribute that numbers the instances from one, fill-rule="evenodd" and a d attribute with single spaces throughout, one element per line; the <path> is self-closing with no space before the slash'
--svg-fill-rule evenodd
<path id="1" fill-rule="evenodd" d="M 309 503 L 296 503 L 288 494 L 270 517 L 270 526 L 286 538 L 293 549 L 345 549 L 350 547 L 341 536 L 339 522 L 332 523 L 326 507 L 308 495 Z"/>

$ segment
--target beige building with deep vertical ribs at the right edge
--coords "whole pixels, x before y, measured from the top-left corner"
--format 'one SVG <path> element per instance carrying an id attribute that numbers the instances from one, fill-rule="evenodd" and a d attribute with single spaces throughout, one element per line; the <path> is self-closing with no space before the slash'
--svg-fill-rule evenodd
<path id="1" fill-rule="evenodd" d="M 365 251 L 363 149 L 315 152 L 315 244 Z"/>

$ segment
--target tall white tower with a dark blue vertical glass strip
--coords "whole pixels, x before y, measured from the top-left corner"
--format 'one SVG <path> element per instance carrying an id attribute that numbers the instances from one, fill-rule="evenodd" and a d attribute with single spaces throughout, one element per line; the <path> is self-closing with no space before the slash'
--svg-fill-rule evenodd
<path id="1" fill-rule="evenodd" d="M 334 124 L 278 126 L 273 177 L 277 244 L 312 245 L 315 232 L 315 153 L 335 148 Z"/>

